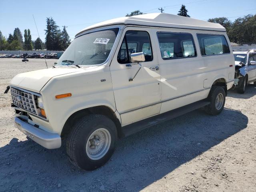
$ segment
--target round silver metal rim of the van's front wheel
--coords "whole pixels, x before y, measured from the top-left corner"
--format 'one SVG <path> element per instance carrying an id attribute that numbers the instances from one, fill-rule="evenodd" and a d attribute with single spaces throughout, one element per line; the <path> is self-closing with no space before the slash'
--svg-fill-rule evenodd
<path id="1" fill-rule="evenodd" d="M 101 159 L 110 148 L 111 135 L 105 128 L 95 130 L 86 142 L 86 154 L 91 160 Z"/>

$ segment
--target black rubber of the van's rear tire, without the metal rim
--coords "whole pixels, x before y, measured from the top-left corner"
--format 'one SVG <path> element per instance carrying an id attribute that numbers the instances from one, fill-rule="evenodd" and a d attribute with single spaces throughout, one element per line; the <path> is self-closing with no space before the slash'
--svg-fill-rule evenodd
<path id="1" fill-rule="evenodd" d="M 217 96 L 219 94 L 222 94 L 223 103 L 222 103 L 221 107 L 217 108 L 216 100 L 217 100 Z M 208 96 L 208 100 L 210 101 L 210 104 L 204 107 L 205 112 L 210 115 L 220 114 L 224 108 L 225 101 L 226 101 L 226 93 L 225 93 L 224 88 L 222 88 L 220 86 L 212 86 L 209 96 Z"/>

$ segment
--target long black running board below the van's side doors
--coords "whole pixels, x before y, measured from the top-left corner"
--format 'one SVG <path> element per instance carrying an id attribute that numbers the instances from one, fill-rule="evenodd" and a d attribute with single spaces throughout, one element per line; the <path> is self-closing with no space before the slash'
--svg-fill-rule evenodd
<path id="1" fill-rule="evenodd" d="M 150 118 L 146 118 L 144 120 L 140 120 L 138 122 L 126 125 L 122 127 L 122 133 L 123 136 L 129 136 L 131 134 L 134 134 L 138 131 L 141 131 L 145 128 L 154 126 L 158 123 L 164 122 L 164 121 L 168 121 L 171 120 L 173 118 L 176 118 L 178 116 L 184 115 L 188 112 L 194 111 L 196 109 L 202 108 L 206 105 L 210 104 L 210 102 L 205 101 L 205 100 L 201 100 L 198 102 L 194 102 L 192 104 L 188 104 L 186 106 L 165 112 L 163 114 L 159 114 Z"/>

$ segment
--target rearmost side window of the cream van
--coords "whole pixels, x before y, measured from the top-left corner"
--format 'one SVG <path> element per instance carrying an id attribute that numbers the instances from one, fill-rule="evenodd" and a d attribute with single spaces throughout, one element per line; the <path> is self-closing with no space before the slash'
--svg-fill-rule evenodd
<path id="1" fill-rule="evenodd" d="M 202 56 L 230 53 L 228 42 L 223 35 L 197 35 Z"/>

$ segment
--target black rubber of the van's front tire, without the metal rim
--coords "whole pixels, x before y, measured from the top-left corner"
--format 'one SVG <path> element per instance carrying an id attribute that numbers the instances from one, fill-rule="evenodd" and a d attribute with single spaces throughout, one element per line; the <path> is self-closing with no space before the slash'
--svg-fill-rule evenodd
<path id="1" fill-rule="evenodd" d="M 98 159 L 92 160 L 86 152 L 86 143 L 89 136 L 97 129 L 105 128 L 111 136 L 111 143 L 106 154 Z M 104 165 L 115 150 L 117 131 L 114 122 L 103 115 L 91 114 L 81 118 L 72 128 L 66 141 L 66 152 L 70 161 L 84 170 L 94 170 Z"/>

